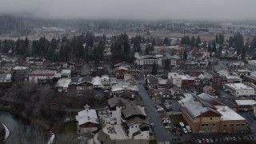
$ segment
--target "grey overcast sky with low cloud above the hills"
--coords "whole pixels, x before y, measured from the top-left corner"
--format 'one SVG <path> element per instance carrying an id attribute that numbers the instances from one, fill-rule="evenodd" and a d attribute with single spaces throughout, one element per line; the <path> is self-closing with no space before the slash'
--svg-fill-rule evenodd
<path id="1" fill-rule="evenodd" d="M 36 18 L 256 20 L 256 0 L 0 0 L 0 14 Z"/>

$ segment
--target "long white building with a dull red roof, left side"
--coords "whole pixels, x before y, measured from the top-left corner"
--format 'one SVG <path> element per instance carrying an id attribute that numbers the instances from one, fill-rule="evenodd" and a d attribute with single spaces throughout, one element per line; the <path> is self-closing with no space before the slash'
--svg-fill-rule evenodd
<path id="1" fill-rule="evenodd" d="M 29 82 L 51 82 L 55 74 L 57 74 L 56 70 L 34 70 L 29 74 Z"/>

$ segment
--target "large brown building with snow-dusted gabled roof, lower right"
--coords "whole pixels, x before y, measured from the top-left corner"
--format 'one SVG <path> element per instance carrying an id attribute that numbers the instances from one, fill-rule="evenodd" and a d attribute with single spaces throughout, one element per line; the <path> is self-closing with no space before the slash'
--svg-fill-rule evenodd
<path id="1" fill-rule="evenodd" d="M 193 133 L 235 133 L 246 130 L 246 119 L 210 95 L 188 95 L 180 101 L 182 117 Z"/>

